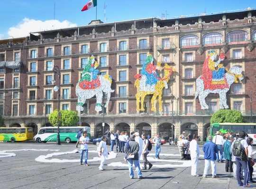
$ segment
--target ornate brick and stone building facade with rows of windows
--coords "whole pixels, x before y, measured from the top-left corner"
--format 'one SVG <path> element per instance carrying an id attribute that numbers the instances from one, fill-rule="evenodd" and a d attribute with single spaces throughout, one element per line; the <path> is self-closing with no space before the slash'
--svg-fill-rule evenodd
<path id="1" fill-rule="evenodd" d="M 112 79 L 110 104 L 95 112 L 96 99 L 78 112 L 82 126 L 91 127 L 91 136 L 107 129 L 161 133 L 166 139 L 182 131 L 207 135 L 210 116 L 219 110 L 219 96 L 206 98 L 209 110 L 201 110 L 194 98 L 196 78 L 210 50 L 225 53 L 226 68 L 239 66 L 245 79 L 232 84 L 227 93 L 230 109 L 242 112 L 248 122 L 256 122 L 256 11 L 230 12 L 162 20 L 146 18 L 114 23 L 92 21 L 87 26 L 40 32 L 38 36 L 0 40 L 0 112 L 5 126 L 49 126 L 49 114 L 58 108 L 52 79 L 53 66 L 60 68 L 61 109 L 75 110 L 76 83 L 91 54 L 99 62 L 101 75 Z M 176 70 L 163 92 L 164 111 L 136 110 L 134 76 L 140 73 L 147 53 Z M 57 83 L 59 81 L 57 80 Z M 102 123 L 105 122 L 105 127 Z"/>

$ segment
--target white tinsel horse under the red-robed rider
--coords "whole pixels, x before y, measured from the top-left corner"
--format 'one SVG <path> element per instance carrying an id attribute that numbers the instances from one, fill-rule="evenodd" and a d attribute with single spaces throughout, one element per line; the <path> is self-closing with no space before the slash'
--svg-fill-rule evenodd
<path id="1" fill-rule="evenodd" d="M 201 104 L 201 109 L 209 109 L 209 106 L 205 102 L 205 98 L 208 96 L 210 93 L 214 94 L 219 94 L 219 108 L 220 109 L 228 109 L 229 106 L 227 104 L 227 92 L 230 89 L 230 85 L 232 83 L 238 83 L 238 80 L 241 81 L 243 80 L 243 75 L 242 75 L 242 69 L 238 66 L 234 66 L 229 71 L 225 74 L 225 78 L 228 82 L 229 87 L 224 88 L 224 89 L 215 89 L 215 90 L 210 90 L 210 89 L 204 89 L 204 82 L 201 79 L 201 76 L 196 79 L 196 93 L 195 93 L 195 98 L 199 96 L 199 102 Z"/>

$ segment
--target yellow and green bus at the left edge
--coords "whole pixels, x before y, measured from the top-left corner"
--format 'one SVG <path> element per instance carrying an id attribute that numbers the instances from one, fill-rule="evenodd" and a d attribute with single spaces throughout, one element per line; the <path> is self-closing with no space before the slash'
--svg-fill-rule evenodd
<path id="1" fill-rule="evenodd" d="M 33 140 L 34 132 L 31 127 L 0 127 L 0 141 Z"/>

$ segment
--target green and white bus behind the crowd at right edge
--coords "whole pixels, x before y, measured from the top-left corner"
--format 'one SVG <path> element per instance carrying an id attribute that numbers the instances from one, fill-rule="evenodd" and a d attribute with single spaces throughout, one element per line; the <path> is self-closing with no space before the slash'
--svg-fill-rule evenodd
<path id="1" fill-rule="evenodd" d="M 256 145 L 256 123 L 213 123 L 208 130 L 207 136 L 213 137 L 218 130 L 222 134 L 229 131 L 238 133 L 240 130 L 243 130 L 249 137 L 253 138 L 253 144 Z"/>

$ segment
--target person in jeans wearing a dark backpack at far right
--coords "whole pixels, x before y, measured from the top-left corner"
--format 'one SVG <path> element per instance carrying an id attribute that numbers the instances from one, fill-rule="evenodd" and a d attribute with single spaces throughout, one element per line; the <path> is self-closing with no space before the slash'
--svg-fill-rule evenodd
<path id="1" fill-rule="evenodd" d="M 248 160 L 248 144 L 245 140 L 246 133 L 243 130 L 240 130 L 238 133 L 238 140 L 234 142 L 232 153 L 236 156 L 237 162 L 237 180 L 238 186 L 243 187 L 251 187 L 248 184 L 248 167 L 247 167 L 247 160 Z M 241 180 L 241 169 L 243 167 L 244 170 L 244 182 Z"/>

